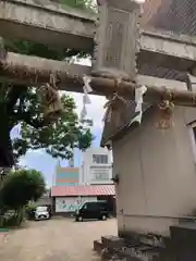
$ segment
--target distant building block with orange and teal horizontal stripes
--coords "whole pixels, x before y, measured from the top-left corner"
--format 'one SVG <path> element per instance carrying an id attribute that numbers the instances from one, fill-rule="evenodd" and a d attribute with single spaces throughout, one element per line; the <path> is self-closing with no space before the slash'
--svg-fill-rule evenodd
<path id="1" fill-rule="evenodd" d="M 78 167 L 62 167 L 58 164 L 53 177 L 53 186 L 77 186 L 79 181 L 78 173 Z"/>

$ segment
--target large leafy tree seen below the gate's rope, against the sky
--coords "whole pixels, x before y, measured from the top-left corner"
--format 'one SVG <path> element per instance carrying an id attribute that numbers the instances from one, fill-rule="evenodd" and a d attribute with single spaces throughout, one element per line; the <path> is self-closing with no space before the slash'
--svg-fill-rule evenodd
<path id="1" fill-rule="evenodd" d="M 4 148 L 10 149 L 9 133 L 15 125 L 21 125 L 21 135 L 12 141 L 15 160 L 28 149 L 45 149 L 52 157 L 70 159 L 74 148 L 85 150 L 91 145 L 93 135 L 79 123 L 73 98 L 63 95 L 61 116 L 54 123 L 46 124 L 42 104 L 33 87 L 14 85 L 3 97 L 0 153 Z"/>

